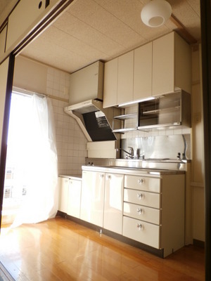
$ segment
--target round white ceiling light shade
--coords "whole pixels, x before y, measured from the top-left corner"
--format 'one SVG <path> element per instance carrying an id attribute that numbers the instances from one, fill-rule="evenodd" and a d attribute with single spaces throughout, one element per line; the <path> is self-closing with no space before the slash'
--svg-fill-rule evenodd
<path id="1" fill-rule="evenodd" d="M 165 0 L 152 0 L 141 10 L 141 20 L 149 27 L 160 27 L 170 18 L 171 5 Z"/>

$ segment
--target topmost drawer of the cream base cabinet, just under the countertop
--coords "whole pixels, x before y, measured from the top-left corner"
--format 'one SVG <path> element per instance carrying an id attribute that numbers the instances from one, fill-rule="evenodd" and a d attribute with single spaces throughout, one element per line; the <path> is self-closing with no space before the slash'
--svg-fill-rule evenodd
<path id="1" fill-rule="evenodd" d="M 124 176 L 124 188 L 160 192 L 160 178 L 146 176 Z"/>

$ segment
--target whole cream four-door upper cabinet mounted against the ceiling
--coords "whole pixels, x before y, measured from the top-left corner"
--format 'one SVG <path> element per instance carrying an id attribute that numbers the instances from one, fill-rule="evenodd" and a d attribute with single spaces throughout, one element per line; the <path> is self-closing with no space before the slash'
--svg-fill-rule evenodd
<path id="1" fill-rule="evenodd" d="M 179 89 L 191 93 L 191 47 L 175 32 L 105 64 L 103 107 Z"/>

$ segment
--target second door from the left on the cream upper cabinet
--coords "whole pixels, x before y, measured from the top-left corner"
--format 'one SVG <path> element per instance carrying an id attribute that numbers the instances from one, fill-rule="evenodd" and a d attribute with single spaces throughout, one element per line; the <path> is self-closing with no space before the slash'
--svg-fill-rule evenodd
<path id="1" fill-rule="evenodd" d="M 134 88 L 134 51 L 118 58 L 117 104 L 133 100 Z"/>

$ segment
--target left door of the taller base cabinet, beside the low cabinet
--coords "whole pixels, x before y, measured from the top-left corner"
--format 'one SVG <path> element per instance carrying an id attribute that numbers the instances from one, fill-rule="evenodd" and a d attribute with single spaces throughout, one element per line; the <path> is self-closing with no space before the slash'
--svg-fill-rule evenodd
<path id="1" fill-rule="evenodd" d="M 80 218 L 103 227 L 105 173 L 83 171 Z"/>

